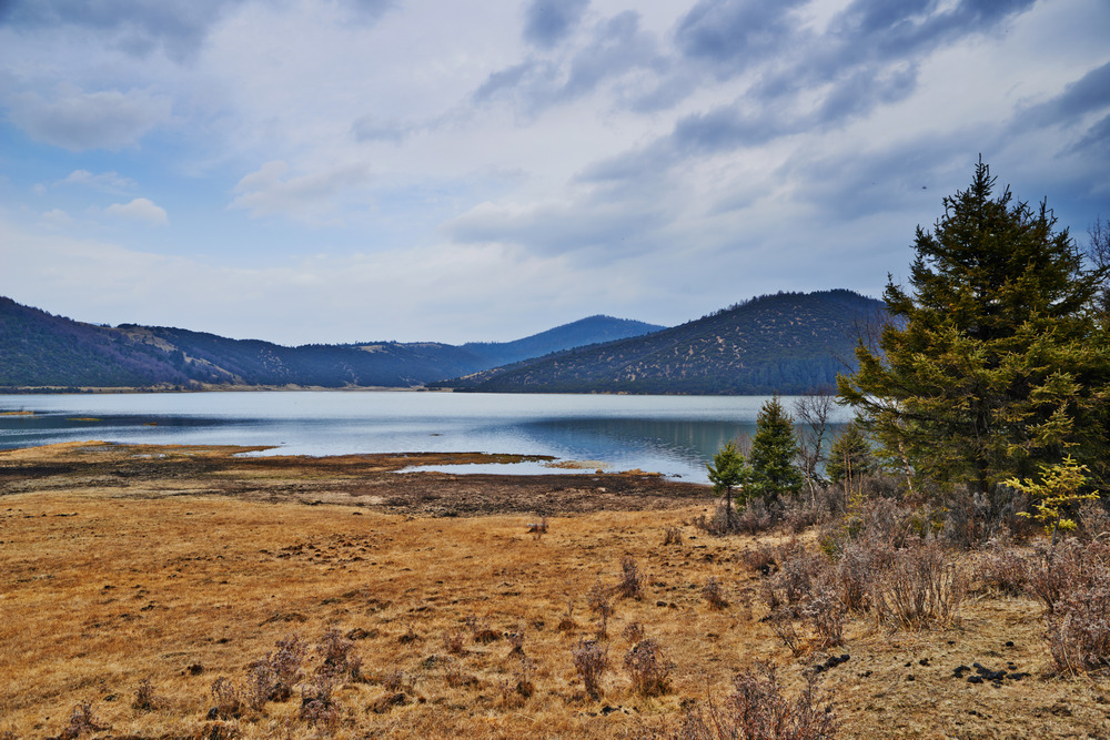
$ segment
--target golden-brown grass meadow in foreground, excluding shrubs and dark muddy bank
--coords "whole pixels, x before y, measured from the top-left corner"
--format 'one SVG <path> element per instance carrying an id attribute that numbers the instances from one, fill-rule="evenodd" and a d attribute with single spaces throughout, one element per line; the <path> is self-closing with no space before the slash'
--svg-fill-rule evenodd
<path id="1" fill-rule="evenodd" d="M 311 737 L 299 693 L 213 721 L 211 687 L 218 677 L 244 687 L 250 663 L 276 640 L 295 633 L 315 643 L 330 627 L 357 638 L 365 676 L 336 690 L 337 738 L 659 733 L 677 726 L 684 700 L 724 696 L 731 676 L 757 660 L 777 663 L 797 688 L 816 658 L 795 658 L 760 621 L 758 579 L 741 561 L 755 540 L 683 525 L 703 511 L 551 517 L 537 539 L 527 534 L 531 517 L 517 515 L 414 518 L 188 493 L 142 498 L 91 485 L 4 496 L 0 733 L 57 736 L 87 702 L 111 728 L 100 737 L 212 737 L 218 724 L 242 738 Z M 683 545 L 663 546 L 668 527 L 682 528 Z M 614 597 L 610 668 L 592 701 L 571 649 L 594 631 L 591 588 L 615 585 L 625 557 L 645 575 L 644 595 Z M 709 577 L 727 588 L 728 608 L 705 604 Z M 559 630 L 568 605 L 576 627 Z M 476 642 L 468 617 L 501 633 L 524 630 L 531 696 L 516 689 L 521 658 L 508 640 Z M 623 668 L 630 645 L 622 630 L 634 621 L 675 665 L 662 697 L 635 693 Z M 825 681 L 841 734 L 1110 734 L 1107 682 L 1045 677 L 1042 632 L 1028 599 L 972 601 L 959 627 L 931 632 L 850 622 L 848 646 L 836 651 L 851 660 Z M 453 652 L 457 635 L 462 650 Z M 975 660 L 1012 660 L 1033 676 L 1000 689 L 951 677 Z M 317 663 L 310 655 L 307 672 Z M 143 679 L 159 698 L 150 711 L 132 707 Z M 397 693 L 400 703 L 385 700 Z"/>

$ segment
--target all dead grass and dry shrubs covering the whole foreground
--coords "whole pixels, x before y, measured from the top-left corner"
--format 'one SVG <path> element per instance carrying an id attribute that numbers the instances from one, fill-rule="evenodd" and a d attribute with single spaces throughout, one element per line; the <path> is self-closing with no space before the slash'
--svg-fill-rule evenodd
<path id="1" fill-rule="evenodd" d="M 0 737 L 1110 734 L 1098 541 L 968 553 L 881 506 L 712 537 L 652 493 L 537 538 L 213 495 L 245 486 L 219 457 L 3 478 Z M 323 498 L 327 465 L 246 470 Z"/>

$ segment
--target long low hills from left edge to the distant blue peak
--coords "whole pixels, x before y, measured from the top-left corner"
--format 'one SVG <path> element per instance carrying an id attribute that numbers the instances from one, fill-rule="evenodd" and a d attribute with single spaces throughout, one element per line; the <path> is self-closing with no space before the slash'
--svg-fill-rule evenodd
<path id="1" fill-rule="evenodd" d="M 659 327 L 592 316 L 507 343 L 285 347 L 164 326 L 85 324 L 0 297 L 0 387 L 412 387 L 523 359 L 529 352 L 654 328 Z"/>

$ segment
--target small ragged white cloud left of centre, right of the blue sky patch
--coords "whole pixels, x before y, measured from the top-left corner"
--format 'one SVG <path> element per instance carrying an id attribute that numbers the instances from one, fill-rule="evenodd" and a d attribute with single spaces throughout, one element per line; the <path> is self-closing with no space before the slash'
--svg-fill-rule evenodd
<path id="1" fill-rule="evenodd" d="M 332 211 L 334 200 L 345 190 L 370 179 L 363 164 L 342 164 L 296 178 L 286 178 L 287 170 L 285 162 L 275 160 L 245 175 L 235 185 L 238 195 L 230 207 L 244 209 L 255 217 L 291 214 L 314 221 Z"/>

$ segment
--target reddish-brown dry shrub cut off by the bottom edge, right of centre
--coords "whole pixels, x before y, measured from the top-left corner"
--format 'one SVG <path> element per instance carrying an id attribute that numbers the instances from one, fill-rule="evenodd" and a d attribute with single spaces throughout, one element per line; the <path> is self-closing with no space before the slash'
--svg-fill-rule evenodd
<path id="1" fill-rule="evenodd" d="M 837 721 L 831 703 L 823 703 L 810 680 L 793 700 L 786 696 L 775 669 L 759 665 L 733 680 L 734 691 L 718 707 L 692 706 L 675 740 L 831 740 Z"/>

